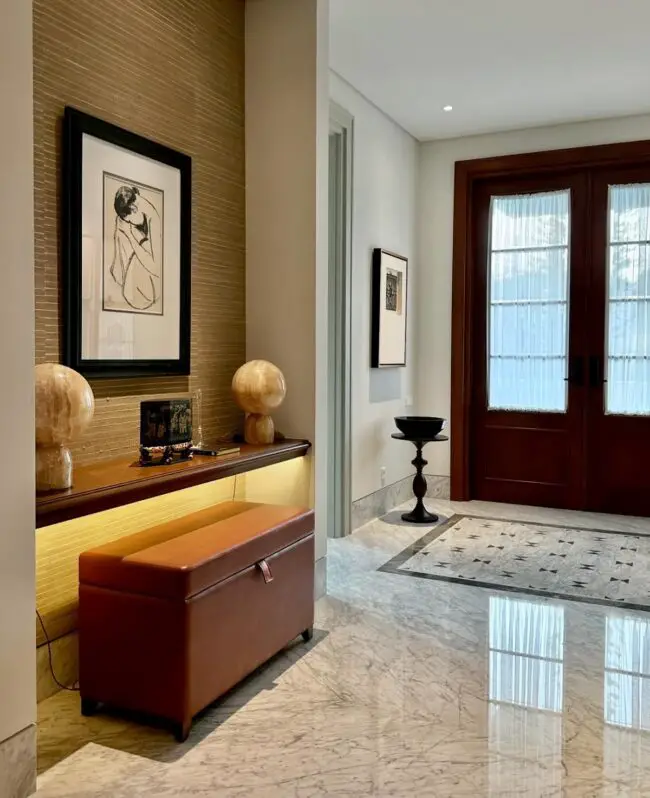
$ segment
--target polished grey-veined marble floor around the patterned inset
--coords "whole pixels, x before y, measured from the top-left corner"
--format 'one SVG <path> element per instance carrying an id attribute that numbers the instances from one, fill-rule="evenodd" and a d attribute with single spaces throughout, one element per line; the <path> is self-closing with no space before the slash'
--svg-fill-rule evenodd
<path id="1" fill-rule="evenodd" d="M 428 504 L 650 535 L 648 520 Z M 650 795 L 650 613 L 377 571 L 423 531 L 374 521 L 331 541 L 314 640 L 183 745 L 82 718 L 71 693 L 43 702 L 38 795 Z"/>

